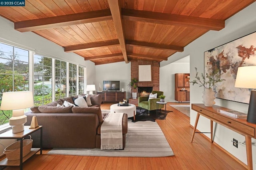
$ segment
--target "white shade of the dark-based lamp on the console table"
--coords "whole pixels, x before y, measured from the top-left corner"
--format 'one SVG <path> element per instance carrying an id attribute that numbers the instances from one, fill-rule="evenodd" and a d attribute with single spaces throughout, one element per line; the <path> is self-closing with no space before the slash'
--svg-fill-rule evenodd
<path id="1" fill-rule="evenodd" d="M 256 66 L 238 67 L 235 87 L 256 89 Z"/>

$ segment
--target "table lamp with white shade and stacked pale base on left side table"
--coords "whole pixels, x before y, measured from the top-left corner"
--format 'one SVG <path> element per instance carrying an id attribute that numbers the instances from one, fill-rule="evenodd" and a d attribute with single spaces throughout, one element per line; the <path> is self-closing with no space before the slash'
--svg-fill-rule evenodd
<path id="1" fill-rule="evenodd" d="M 34 106 L 32 91 L 12 91 L 3 93 L 0 110 L 12 110 L 12 117 L 9 119 L 9 124 L 12 126 L 12 133 L 24 131 L 24 124 L 27 122 L 24 109 L 32 106 Z"/>

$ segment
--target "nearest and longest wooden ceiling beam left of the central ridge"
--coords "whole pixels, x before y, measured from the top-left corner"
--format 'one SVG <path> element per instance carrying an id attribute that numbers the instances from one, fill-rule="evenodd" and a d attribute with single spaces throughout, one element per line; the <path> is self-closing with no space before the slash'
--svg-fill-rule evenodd
<path id="1" fill-rule="evenodd" d="M 110 9 L 15 22 L 14 29 L 29 32 L 105 20 L 112 20 Z"/>

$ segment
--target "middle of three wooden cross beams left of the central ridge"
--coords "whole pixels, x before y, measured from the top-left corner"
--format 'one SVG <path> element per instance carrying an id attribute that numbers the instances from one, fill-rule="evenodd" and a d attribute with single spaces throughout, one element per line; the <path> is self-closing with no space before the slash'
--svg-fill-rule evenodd
<path id="1" fill-rule="evenodd" d="M 84 44 L 78 44 L 78 45 L 69 45 L 64 47 L 64 51 L 74 52 L 74 51 L 82 51 L 82 50 L 89 50 L 89 49 L 95 49 L 95 48 L 112 47 L 116 45 L 119 45 L 118 39 L 104 41 L 104 42 L 93 42 L 93 43 L 84 43 Z"/>

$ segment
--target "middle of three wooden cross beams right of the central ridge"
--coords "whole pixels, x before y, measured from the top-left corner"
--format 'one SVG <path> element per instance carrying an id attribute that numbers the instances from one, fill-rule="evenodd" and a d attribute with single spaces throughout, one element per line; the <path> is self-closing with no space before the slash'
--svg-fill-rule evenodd
<path id="1" fill-rule="evenodd" d="M 133 40 L 126 40 L 126 44 L 134 45 L 134 46 L 137 46 L 137 47 L 147 47 L 147 48 L 172 50 L 172 51 L 179 51 L 179 52 L 182 52 L 184 50 L 183 47 L 175 46 L 175 45 L 165 45 L 165 44 L 158 44 L 158 43 L 138 42 L 138 41 L 133 41 Z"/>

